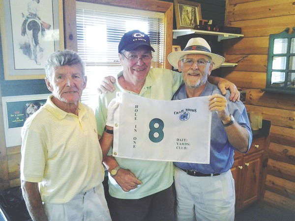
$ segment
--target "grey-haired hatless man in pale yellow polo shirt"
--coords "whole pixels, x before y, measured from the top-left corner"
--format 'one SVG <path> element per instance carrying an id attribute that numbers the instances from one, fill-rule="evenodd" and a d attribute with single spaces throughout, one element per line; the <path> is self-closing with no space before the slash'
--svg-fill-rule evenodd
<path id="1" fill-rule="evenodd" d="M 22 129 L 21 185 L 29 214 L 42 221 L 110 221 L 94 113 L 80 102 L 84 62 L 73 51 L 59 51 L 45 71 L 52 95 Z M 103 138 L 102 146 L 111 145 L 113 135 Z"/>

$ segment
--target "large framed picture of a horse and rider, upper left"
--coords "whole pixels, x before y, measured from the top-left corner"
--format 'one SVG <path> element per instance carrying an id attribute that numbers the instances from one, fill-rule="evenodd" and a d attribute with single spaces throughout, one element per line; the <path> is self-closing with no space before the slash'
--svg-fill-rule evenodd
<path id="1" fill-rule="evenodd" d="M 0 31 L 5 80 L 43 79 L 64 48 L 62 0 L 0 0 Z"/>

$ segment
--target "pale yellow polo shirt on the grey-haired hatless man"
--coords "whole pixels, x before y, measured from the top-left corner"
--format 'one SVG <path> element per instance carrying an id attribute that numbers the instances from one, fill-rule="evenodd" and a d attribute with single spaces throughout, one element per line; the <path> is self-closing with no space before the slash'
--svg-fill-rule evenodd
<path id="1" fill-rule="evenodd" d="M 93 111 L 67 113 L 51 98 L 22 128 L 21 179 L 39 183 L 43 202 L 66 203 L 103 181 L 102 151 Z"/>

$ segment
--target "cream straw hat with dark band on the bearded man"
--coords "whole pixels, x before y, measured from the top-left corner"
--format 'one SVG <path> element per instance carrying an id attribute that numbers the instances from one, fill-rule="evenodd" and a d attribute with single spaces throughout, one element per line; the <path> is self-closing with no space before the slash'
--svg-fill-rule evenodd
<path id="1" fill-rule="evenodd" d="M 204 38 L 189 39 L 183 51 L 172 52 L 168 55 L 168 61 L 173 67 L 178 68 L 178 60 L 180 60 L 182 56 L 189 54 L 200 54 L 211 57 L 213 63 L 212 70 L 220 67 L 220 65 L 225 61 L 223 56 L 211 53 L 211 48 Z"/>

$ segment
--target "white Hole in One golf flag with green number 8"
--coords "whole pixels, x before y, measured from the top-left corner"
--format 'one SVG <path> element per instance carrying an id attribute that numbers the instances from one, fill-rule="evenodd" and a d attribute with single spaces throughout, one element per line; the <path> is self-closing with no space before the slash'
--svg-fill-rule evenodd
<path id="1" fill-rule="evenodd" d="M 209 164 L 208 97 L 159 101 L 117 93 L 113 156 Z"/>

